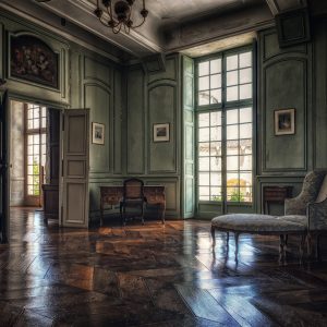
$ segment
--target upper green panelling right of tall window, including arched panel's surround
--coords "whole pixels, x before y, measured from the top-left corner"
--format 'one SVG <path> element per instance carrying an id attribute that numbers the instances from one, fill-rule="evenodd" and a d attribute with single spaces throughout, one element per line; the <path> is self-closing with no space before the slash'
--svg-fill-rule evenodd
<path id="1" fill-rule="evenodd" d="M 259 34 L 258 174 L 304 173 L 312 167 L 312 51 L 310 44 L 280 49 L 275 29 Z M 295 109 L 295 134 L 275 135 L 274 111 Z"/>

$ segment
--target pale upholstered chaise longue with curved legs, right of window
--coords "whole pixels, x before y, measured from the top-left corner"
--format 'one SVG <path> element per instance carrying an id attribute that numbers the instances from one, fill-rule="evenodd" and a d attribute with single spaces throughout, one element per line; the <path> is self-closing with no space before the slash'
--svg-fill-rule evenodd
<path id="1" fill-rule="evenodd" d="M 286 255 L 286 244 L 289 234 L 298 234 L 300 242 L 300 259 L 307 240 L 308 253 L 312 252 L 311 240 L 316 237 L 316 254 L 319 256 L 319 238 L 327 231 L 327 171 L 315 170 L 306 174 L 301 193 L 294 198 L 284 202 L 284 216 L 270 216 L 261 214 L 229 214 L 213 218 L 211 237 L 213 246 L 216 245 L 216 231 L 234 233 L 235 257 L 239 252 L 239 235 L 275 234 L 280 237 L 279 256 Z"/>

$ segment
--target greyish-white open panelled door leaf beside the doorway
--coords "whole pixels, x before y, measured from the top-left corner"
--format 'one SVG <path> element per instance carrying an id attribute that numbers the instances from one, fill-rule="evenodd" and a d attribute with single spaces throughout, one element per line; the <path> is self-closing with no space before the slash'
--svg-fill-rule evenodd
<path id="1" fill-rule="evenodd" d="M 88 227 L 89 110 L 62 113 L 61 225 Z"/>

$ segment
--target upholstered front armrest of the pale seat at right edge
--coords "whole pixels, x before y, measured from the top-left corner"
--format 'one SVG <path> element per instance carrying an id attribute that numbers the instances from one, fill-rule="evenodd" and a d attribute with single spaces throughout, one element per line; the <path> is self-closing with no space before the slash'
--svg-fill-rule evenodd
<path id="1" fill-rule="evenodd" d="M 327 198 L 307 204 L 308 230 L 327 230 Z"/>

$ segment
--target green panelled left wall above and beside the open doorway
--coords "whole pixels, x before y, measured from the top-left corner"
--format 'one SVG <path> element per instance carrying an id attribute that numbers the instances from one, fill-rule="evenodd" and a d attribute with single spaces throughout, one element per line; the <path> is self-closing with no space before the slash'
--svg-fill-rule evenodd
<path id="1" fill-rule="evenodd" d="M 11 77 L 11 35 L 34 35 L 59 55 L 59 89 Z M 92 217 L 99 210 L 99 185 L 122 175 L 123 69 L 108 56 L 99 56 L 12 14 L 0 15 L 0 76 L 7 78 L 10 96 L 39 101 L 55 108 L 89 108 L 90 121 L 105 124 L 105 145 L 90 144 L 89 196 Z"/>

